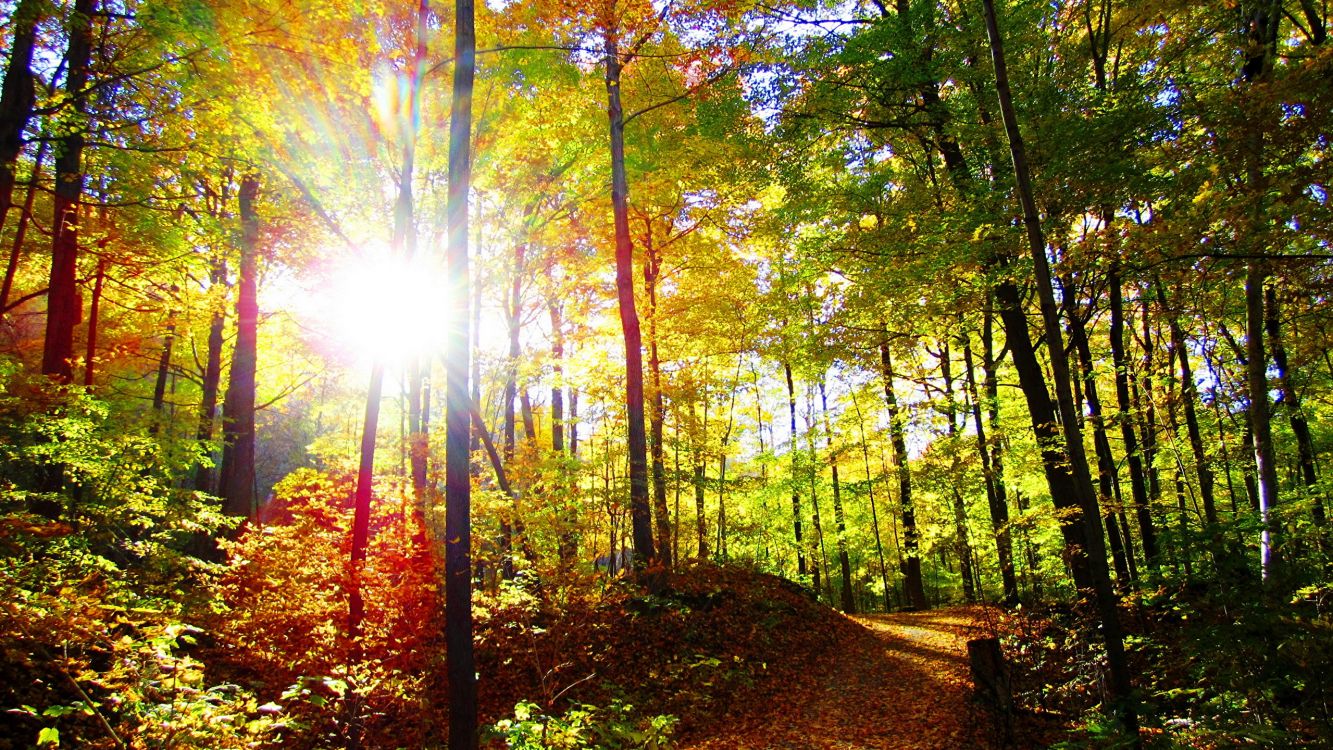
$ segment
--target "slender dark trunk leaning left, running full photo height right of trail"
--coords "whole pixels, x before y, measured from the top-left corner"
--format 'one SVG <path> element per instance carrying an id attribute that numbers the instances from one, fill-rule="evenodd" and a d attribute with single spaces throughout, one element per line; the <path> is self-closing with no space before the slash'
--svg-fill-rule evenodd
<path id="1" fill-rule="evenodd" d="M 1036 273 L 1037 297 L 1041 301 L 1046 350 L 1050 353 L 1050 369 L 1056 381 L 1056 401 L 1060 405 L 1060 418 L 1065 434 L 1064 453 L 1068 454 L 1073 468 L 1077 505 L 1082 514 L 1081 521 L 1086 529 L 1086 548 L 1085 550 L 1076 550 L 1074 557 L 1085 557 L 1092 573 L 1092 587 L 1096 597 L 1098 619 L 1101 619 L 1101 634 L 1106 646 L 1106 665 L 1110 671 L 1112 709 L 1125 733 L 1137 735 L 1138 715 L 1133 705 L 1133 681 L 1125 655 L 1120 615 L 1116 611 L 1116 594 L 1112 591 L 1110 575 L 1106 570 L 1106 550 L 1101 537 L 1101 522 L 1097 517 L 1097 498 L 1093 494 L 1092 480 L 1088 473 L 1088 458 L 1084 456 L 1082 436 L 1080 434 L 1074 413 L 1069 362 L 1065 360 L 1060 316 L 1056 310 L 1054 288 L 1050 282 L 1050 268 L 1046 261 L 1046 238 L 1037 214 L 1037 202 L 1033 198 L 1033 189 L 1028 175 L 1028 156 L 1024 149 L 1022 136 L 1018 132 L 1013 97 L 1009 92 L 1009 73 L 1005 67 L 1004 41 L 1000 36 L 994 1 L 982 0 L 982 9 L 986 16 L 986 37 L 990 40 L 990 57 L 996 72 L 996 95 L 1000 101 L 1000 115 L 1004 120 L 1005 135 L 1009 140 L 1009 155 L 1013 159 L 1014 181 L 1018 200 L 1022 204 L 1022 222 L 1026 229 L 1028 249 L 1032 253 L 1033 270 Z M 1054 488 L 1052 490 L 1054 492 Z"/>

